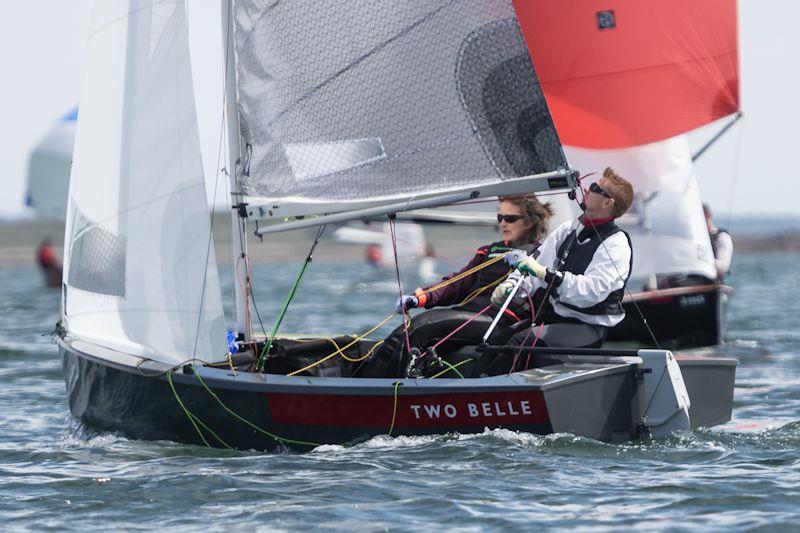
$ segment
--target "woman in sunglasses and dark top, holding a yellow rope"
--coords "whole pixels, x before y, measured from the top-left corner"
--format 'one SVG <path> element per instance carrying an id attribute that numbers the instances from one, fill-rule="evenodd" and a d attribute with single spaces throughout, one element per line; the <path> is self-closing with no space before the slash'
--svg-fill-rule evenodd
<path id="1" fill-rule="evenodd" d="M 504 196 L 497 206 L 497 222 L 502 241 L 481 246 L 467 265 L 445 276 L 435 285 L 418 288 L 414 294 L 398 298 L 395 310 L 403 313 L 415 307 L 430 309 L 416 315 L 408 327 L 408 342 L 414 349 L 424 352 L 440 339 L 472 319 L 448 339 L 447 348 L 474 344 L 483 337 L 499 308 L 491 303 L 492 289 L 508 275 L 509 267 L 502 259 L 511 250 L 524 250 L 530 254 L 539 247 L 547 234 L 547 221 L 553 215 L 549 203 L 542 204 L 534 195 Z M 475 272 L 460 277 L 468 270 L 487 261 L 495 261 Z M 446 283 L 453 278 L 459 278 Z M 491 308 L 475 317 L 486 306 Z M 454 306 L 447 309 L 433 307 Z M 511 326 L 524 320 L 530 312 L 510 306 L 498 328 Z M 376 350 L 375 354 L 356 371 L 361 377 L 401 377 L 410 362 L 404 326 L 395 329 Z"/>

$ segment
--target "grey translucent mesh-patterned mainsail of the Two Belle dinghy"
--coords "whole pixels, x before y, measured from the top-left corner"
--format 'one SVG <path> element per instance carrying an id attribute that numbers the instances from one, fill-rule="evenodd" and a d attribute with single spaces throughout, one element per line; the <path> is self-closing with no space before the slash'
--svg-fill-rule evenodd
<path id="1" fill-rule="evenodd" d="M 509 0 L 234 9 L 239 179 L 260 197 L 251 216 L 511 191 L 567 169 Z"/>

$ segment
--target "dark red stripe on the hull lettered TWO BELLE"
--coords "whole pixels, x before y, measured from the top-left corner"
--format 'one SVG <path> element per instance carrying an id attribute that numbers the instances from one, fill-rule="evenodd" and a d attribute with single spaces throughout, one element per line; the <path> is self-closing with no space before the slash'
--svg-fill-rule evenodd
<path id="1" fill-rule="evenodd" d="M 267 394 L 279 424 L 374 428 L 392 422 L 392 396 Z M 399 396 L 396 427 L 504 426 L 547 423 L 541 391 Z"/>

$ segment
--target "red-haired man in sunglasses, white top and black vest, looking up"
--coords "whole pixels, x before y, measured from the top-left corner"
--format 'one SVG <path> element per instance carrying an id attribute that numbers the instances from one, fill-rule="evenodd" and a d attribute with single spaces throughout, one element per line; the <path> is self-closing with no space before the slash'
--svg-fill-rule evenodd
<path id="1" fill-rule="evenodd" d="M 517 271 L 492 294 L 501 304 L 520 276 L 519 294 L 537 307 L 533 331 L 522 331 L 508 344 L 599 348 L 608 328 L 625 317 L 622 296 L 632 268 L 630 238 L 614 220 L 633 201 L 633 187 L 611 168 L 584 190 L 584 214 L 547 236 L 538 260 L 522 254 L 506 257 Z M 519 296 L 518 296 L 519 297 Z M 538 309 L 543 306 L 543 309 Z"/>

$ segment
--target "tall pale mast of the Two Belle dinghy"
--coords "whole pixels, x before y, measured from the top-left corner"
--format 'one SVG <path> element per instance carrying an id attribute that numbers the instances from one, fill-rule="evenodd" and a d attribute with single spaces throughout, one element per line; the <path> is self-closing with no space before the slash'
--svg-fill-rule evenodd
<path id="1" fill-rule="evenodd" d="M 236 181 L 239 158 L 239 121 L 236 110 L 236 62 L 233 38 L 233 3 L 222 0 L 222 50 L 223 67 L 225 69 L 224 113 L 225 131 L 227 132 L 227 160 L 231 190 L 231 260 L 234 269 L 234 292 L 236 294 L 236 331 L 244 334 L 245 341 L 252 336 L 252 328 L 248 314 L 248 297 L 250 288 L 250 272 L 247 258 L 247 219 L 241 216 L 238 207 L 243 193 Z"/>

